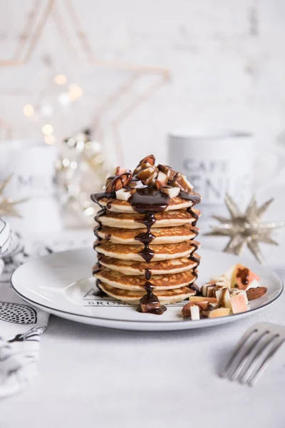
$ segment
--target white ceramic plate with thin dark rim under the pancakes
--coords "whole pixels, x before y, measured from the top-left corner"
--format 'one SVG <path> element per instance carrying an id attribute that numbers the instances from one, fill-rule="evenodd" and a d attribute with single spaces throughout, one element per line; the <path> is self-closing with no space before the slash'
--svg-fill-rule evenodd
<path id="1" fill-rule="evenodd" d="M 199 254 L 202 262 L 199 265 L 198 285 L 207 282 L 212 275 L 222 275 L 230 266 L 242 263 L 261 277 L 260 285 L 268 287 L 268 292 L 253 300 L 249 311 L 229 317 L 198 321 L 183 319 L 183 302 L 169 305 L 163 315 L 141 314 L 136 311 L 135 306 L 97 295 L 95 280 L 90 277 L 95 264 L 95 253 L 89 248 L 30 260 L 14 272 L 11 285 L 26 302 L 58 317 L 123 330 L 160 331 L 210 327 L 247 317 L 281 295 L 282 281 L 267 267 L 211 250 L 201 250 Z"/>

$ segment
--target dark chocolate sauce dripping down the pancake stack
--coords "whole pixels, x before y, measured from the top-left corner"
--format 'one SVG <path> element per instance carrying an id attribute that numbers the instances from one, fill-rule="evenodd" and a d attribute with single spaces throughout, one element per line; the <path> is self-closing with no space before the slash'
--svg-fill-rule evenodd
<path id="1" fill-rule="evenodd" d="M 102 198 L 115 198 L 115 193 L 101 192 L 91 195 L 91 199 L 99 205 L 100 199 Z M 186 193 L 183 191 L 180 192 L 180 198 L 191 200 L 193 205 L 196 205 L 201 200 L 200 196 L 197 193 Z M 160 190 L 157 190 L 156 188 L 145 187 L 136 188 L 135 193 L 131 193 L 128 202 L 130 202 L 130 205 L 132 205 L 133 210 L 135 210 L 137 213 L 145 214 L 145 218 L 142 220 L 141 223 L 146 226 L 147 230 L 146 232 L 142 232 L 136 235 L 135 239 L 143 244 L 143 249 L 140 251 L 139 254 L 142 256 L 145 262 L 150 263 L 155 255 L 155 252 L 150 248 L 150 243 L 155 238 L 155 236 L 151 233 L 151 228 L 155 224 L 155 213 L 161 213 L 162 211 L 164 211 L 170 203 L 170 198 L 167 195 L 161 193 Z M 112 201 L 109 201 L 107 203 L 107 208 L 110 209 L 111 204 Z M 105 208 L 103 208 L 102 205 L 100 205 L 100 207 L 102 208 L 102 210 L 100 210 L 98 215 L 96 215 L 95 217 L 95 220 L 98 222 L 98 227 L 94 229 L 94 233 L 95 236 L 98 238 L 98 241 L 102 240 L 102 238 L 98 237 L 98 230 L 102 228 L 100 216 L 105 215 L 106 212 Z M 199 215 L 197 215 L 192 210 L 192 207 L 187 208 L 187 212 L 190 213 L 193 218 L 195 218 L 195 222 L 192 223 L 192 225 L 195 226 Z M 193 229 L 192 231 L 195 232 L 196 235 L 198 235 L 199 233 L 199 231 L 195 229 Z M 106 237 L 106 239 L 110 239 L 110 236 Z M 195 255 L 193 255 L 195 250 L 197 250 L 198 245 L 197 243 L 192 243 L 192 245 L 194 246 L 194 250 L 192 251 L 189 259 L 199 265 L 199 258 L 196 258 Z M 100 265 L 100 263 L 98 263 L 98 265 Z M 197 273 L 195 272 L 196 268 L 197 266 L 193 269 L 193 275 L 195 275 L 197 278 Z M 166 307 L 160 304 L 160 300 L 153 293 L 154 286 L 150 279 L 151 270 L 146 269 L 144 285 L 146 294 L 140 299 L 140 306 L 138 307 L 138 311 L 161 315 L 163 312 L 165 312 Z M 193 290 L 198 290 L 196 285 L 190 285 L 190 287 Z"/>

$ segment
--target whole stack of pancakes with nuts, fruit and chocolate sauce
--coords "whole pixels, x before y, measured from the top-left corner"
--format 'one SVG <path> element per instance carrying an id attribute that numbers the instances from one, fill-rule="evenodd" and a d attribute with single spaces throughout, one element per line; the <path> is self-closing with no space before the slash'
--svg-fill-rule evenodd
<path id="1" fill-rule="evenodd" d="M 101 207 L 93 268 L 100 290 L 152 313 L 195 295 L 199 211 L 192 207 L 200 196 L 184 175 L 155 166 L 151 155 L 133 172 L 117 168 L 91 198 Z"/>

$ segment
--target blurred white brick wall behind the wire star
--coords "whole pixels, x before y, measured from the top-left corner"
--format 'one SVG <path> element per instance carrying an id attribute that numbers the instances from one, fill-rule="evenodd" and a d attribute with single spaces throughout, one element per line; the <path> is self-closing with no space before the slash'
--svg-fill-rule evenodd
<path id="1" fill-rule="evenodd" d="M 46 1 L 40 3 L 43 9 Z M 32 4 L 0 0 L 0 61 L 13 54 Z M 96 58 L 170 69 L 170 83 L 120 127 L 125 164 L 135 164 L 149 152 L 164 161 L 167 130 L 180 125 L 244 128 L 254 131 L 262 145 L 274 143 L 284 132 L 284 1 L 73 0 L 73 5 Z M 14 138 L 41 136 L 42 122 L 31 125 L 22 109 L 26 103 L 35 105 L 41 93 L 43 98 L 55 97 L 49 87 L 54 74 L 64 73 L 83 88 L 70 111 L 48 120 L 58 138 L 89 126 L 98 104 L 130 77 L 130 72 L 86 63 L 63 6 L 63 1 L 56 3 L 56 16 L 61 16 L 69 43 L 58 33 L 53 12 L 31 60 L 23 66 L 0 67 L 0 117 L 12 124 Z M 113 118 L 140 85 L 145 88 L 153 79 L 143 78 L 105 116 L 108 153 L 114 153 Z M 3 122 L 0 130 L 4 138 Z"/>

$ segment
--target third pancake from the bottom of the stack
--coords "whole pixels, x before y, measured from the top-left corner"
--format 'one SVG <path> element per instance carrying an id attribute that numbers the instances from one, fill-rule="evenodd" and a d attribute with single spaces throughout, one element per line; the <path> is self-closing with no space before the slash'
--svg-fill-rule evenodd
<path id="1" fill-rule="evenodd" d="M 196 253 L 193 255 L 195 258 L 199 258 Z M 149 269 L 152 275 L 167 275 L 186 272 L 187 270 L 197 267 L 198 263 L 193 262 L 187 257 L 147 263 L 145 261 L 135 262 L 134 260 L 120 260 L 101 255 L 100 265 L 109 267 L 109 269 L 116 270 L 117 272 L 122 272 L 124 275 L 145 275 L 146 269 Z M 95 267 L 93 269 L 95 270 Z"/>

